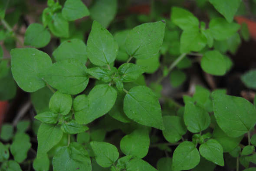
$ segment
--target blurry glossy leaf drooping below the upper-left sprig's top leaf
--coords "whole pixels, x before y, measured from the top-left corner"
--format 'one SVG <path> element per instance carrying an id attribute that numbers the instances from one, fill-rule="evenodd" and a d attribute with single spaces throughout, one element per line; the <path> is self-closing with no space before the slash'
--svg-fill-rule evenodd
<path id="1" fill-rule="evenodd" d="M 61 13 L 53 14 L 51 22 L 48 23 L 48 28 L 57 37 L 69 37 L 69 22 L 62 17 Z"/>

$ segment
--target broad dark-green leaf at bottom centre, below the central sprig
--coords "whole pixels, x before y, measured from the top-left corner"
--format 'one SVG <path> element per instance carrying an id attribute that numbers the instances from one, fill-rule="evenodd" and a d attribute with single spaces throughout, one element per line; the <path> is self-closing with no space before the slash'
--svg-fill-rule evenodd
<path id="1" fill-rule="evenodd" d="M 125 155 L 132 155 L 132 158 L 144 158 L 149 148 L 148 129 L 136 129 L 124 136 L 121 139 L 120 148 Z"/>

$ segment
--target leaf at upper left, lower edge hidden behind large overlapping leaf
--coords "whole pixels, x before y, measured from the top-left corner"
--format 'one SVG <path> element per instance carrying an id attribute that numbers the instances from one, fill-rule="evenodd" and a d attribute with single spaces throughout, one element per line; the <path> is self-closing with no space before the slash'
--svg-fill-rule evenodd
<path id="1" fill-rule="evenodd" d="M 87 61 L 86 45 L 82 40 L 71 39 L 62 42 L 53 52 L 56 61 L 61 61 L 67 58 L 74 58 L 82 61 L 83 64 Z"/>

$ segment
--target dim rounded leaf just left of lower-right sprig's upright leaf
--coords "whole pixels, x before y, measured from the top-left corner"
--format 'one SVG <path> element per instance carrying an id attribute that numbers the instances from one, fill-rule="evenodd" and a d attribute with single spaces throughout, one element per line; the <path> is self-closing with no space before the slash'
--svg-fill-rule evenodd
<path id="1" fill-rule="evenodd" d="M 163 135 L 168 142 L 178 142 L 187 132 L 187 127 L 179 116 L 164 116 L 163 121 Z"/>

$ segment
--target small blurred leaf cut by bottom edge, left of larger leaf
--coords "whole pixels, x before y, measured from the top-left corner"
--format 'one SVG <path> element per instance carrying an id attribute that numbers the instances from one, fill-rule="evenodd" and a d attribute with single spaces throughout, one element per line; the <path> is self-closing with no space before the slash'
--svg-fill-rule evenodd
<path id="1" fill-rule="evenodd" d="M 33 161 L 33 168 L 36 171 L 49 171 L 50 161 L 47 154 L 44 154 L 42 158 L 35 158 Z"/>

